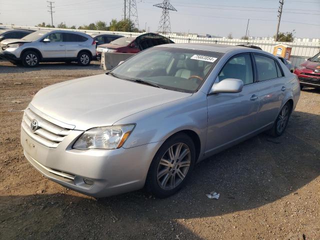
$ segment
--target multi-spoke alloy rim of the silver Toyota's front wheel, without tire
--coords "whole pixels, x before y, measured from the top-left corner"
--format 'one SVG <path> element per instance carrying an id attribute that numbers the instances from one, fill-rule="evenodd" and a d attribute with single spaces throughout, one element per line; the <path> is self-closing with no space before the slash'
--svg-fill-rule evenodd
<path id="1" fill-rule="evenodd" d="M 171 145 L 163 154 L 157 168 L 157 182 L 164 190 L 178 186 L 185 178 L 191 164 L 189 147 L 182 142 Z"/>

